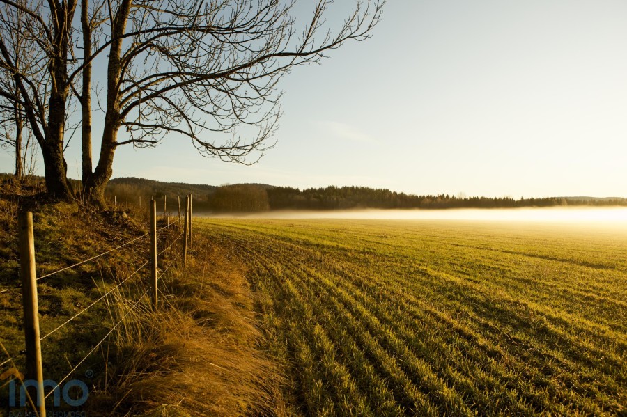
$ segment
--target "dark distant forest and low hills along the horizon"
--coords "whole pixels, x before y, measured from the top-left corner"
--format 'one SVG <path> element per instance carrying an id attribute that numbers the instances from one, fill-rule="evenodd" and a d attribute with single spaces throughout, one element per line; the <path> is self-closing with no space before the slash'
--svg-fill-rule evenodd
<path id="1" fill-rule="evenodd" d="M 161 200 L 169 199 L 169 207 L 177 196 L 192 193 L 194 209 L 212 212 L 263 212 L 268 210 L 350 210 L 350 209 L 452 209 L 452 208 L 515 208 L 554 207 L 570 205 L 627 206 L 627 198 L 550 197 L 489 198 L 459 197 L 449 194 L 417 196 L 388 189 L 369 187 L 325 187 L 297 189 L 266 184 L 235 184 L 215 187 L 202 184 L 167 183 L 140 178 L 111 180 L 107 195 Z"/>

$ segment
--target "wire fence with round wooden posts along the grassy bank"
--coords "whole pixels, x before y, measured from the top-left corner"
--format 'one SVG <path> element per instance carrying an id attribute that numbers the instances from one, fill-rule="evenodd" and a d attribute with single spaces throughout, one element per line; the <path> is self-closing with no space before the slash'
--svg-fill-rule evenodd
<path id="1" fill-rule="evenodd" d="M 191 197 L 191 196 L 190 196 Z M 191 198 L 189 197 L 189 200 L 191 200 Z M 187 228 L 189 227 L 189 225 L 191 225 L 192 223 L 192 214 L 191 214 L 191 204 L 189 202 L 187 202 L 187 215 L 185 217 L 186 221 L 185 221 L 185 225 L 184 225 L 184 230 L 183 232 L 181 232 L 177 237 L 175 237 L 173 240 L 171 240 L 171 242 L 168 243 L 167 236 L 165 237 L 165 239 L 162 239 L 162 241 L 164 241 L 164 249 L 162 249 L 162 251 L 157 253 L 157 233 L 162 232 L 163 230 L 169 229 L 171 226 L 173 226 L 175 223 L 169 223 L 169 220 L 167 221 L 167 224 L 165 226 L 162 226 L 161 228 L 157 228 L 156 227 L 156 212 L 155 212 L 155 201 L 151 201 L 151 204 L 149 206 L 150 211 L 151 211 L 151 221 L 150 221 L 150 232 L 149 233 L 144 233 L 143 235 L 134 237 L 133 239 L 130 239 L 128 242 L 125 242 L 124 244 L 118 245 L 116 247 L 114 247 L 113 249 L 110 249 L 108 251 L 104 251 L 98 255 L 92 256 L 91 258 L 82 260 L 80 262 L 76 262 L 75 264 L 69 265 L 68 267 L 63 267 L 61 269 L 58 269 L 54 272 L 49 272 L 45 275 L 42 275 L 40 277 L 36 277 L 35 276 L 35 257 L 34 257 L 34 244 L 33 244 L 33 224 L 32 224 L 32 214 L 31 213 L 22 213 L 20 214 L 20 262 L 21 262 L 21 267 L 20 267 L 20 276 L 22 277 L 22 285 L 24 286 L 24 294 L 26 294 L 28 292 L 28 288 L 33 288 L 34 292 L 35 292 L 35 301 L 34 301 L 34 305 L 33 306 L 29 306 L 27 304 L 31 304 L 30 301 L 28 299 L 26 299 L 26 296 L 24 297 L 24 331 L 26 334 L 26 371 L 29 375 L 27 375 L 28 377 L 33 377 L 33 375 L 30 374 L 37 374 L 38 372 L 33 372 L 34 370 L 32 369 L 32 365 L 33 363 L 37 363 L 37 359 L 39 362 L 39 366 L 41 366 L 41 352 L 40 352 L 40 343 L 43 340 L 46 340 L 47 338 L 49 338 L 49 336 L 51 336 L 52 334 L 56 333 L 57 331 L 63 329 L 65 326 L 68 326 L 68 324 L 70 324 L 71 322 L 73 322 L 74 320 L 77 319 L 77 317 L 83 315 L 84 313 L 86 313 L 86 311 L 88 311 L 90 308 L 92 308 L 93 306 L 97 305 L 100 303 L 100 301 L 106 300 L 108 299 L 107 297 L 109 297 L 109 295 L 111 295 L 113 292 L 115 292 L 116 290 L 120 290 L 121 287 L 125 284 L 128 283 L 130 281 L 131 278 L 133 278 L 134 276 L 137 276 L 144 268 L 146 268 L 148 265 L 150 265 L 150 269 L 152 269 L 152 275 L 153 276 L 157 276 L 158 274 L 158 278 L 163 278 L 163 276 L 169 271 L 169 269 L 176 264 L 176 262 L 178 260 L 181 260 L 181 264 L 183 266 L 185 266 L 185 255 L 187 253 L 186 247 L 187 247 L 187 241 L 189 240 L 189 238 L 191 237 L 191 233 L 188 234 Z M 189 216 L 189 218 L 188 218 Z M 164 215 L 164 219 L 165 219 L 165 215 Z M 189 219 L 189 220 L 188 220 Z M 24 228 L 22 227 L 22 222 L 24 222 L 24 224 L 29 225 L 28 227 Z M 28 229 L 28 230 L 24 230 L 24 229 Z M 89 304 L 88 306 L 86 306 L 85 308 L 83 308 L 82 310 L 80 310 L 78 313 L 76 313 L 75 315 L 72 315 L 72 317 L 68 318 L 67 320 L 65 320 L 63 323 L 59 324 L 59 326 L 56 326 L 54 329 L 52 329 L 52 331 L 47 332 L 44 336 L 39 336 L 39 323 L 38 323 L 38 306 L 37 306 L 37 297 L 36 297 L 36 283 L 37 281 L 42 280 L 43 278 L 47 278 L 49 276 L 54 276 L 55 274 L 59 274 L 60 272 L 64 272 L 64 271 L 68 271 L 69 269 L 73 269 L 75 267 L 78 267 L 79 265 L 84 265 L 87 262 L 92 262 L 94 260 L 97 260 L 98 258 L 102 258 L 104 255 L 108 255 L 110 253 L 114 253 L 115 251 L 118 251 L 120 249 L 125 248 L 126 246 L 129 246 L 130 244 L 133 244 L 134 242 L 138 242 L 139 239 L 142 239 L 144 237 L 147 236 L 151 236 L 153 237 L 153 239 L 150 239 L 150 250 L 146 251 L 147 253 L 153 253 L 155 254 L 148 256 L 148 260 L 146 260 L 146 262 L 143 262 L 141 265 L 139 265 L 139 267 L 137 267 L 136 269 L 134 269 L 130 274 L 128 274 L 127 276 L 125 276 L 123 279 L 121 279 L 118 283 L 116 283 L 116 285 L 114 285 L 113 288 L 110 288 L 109 290 L 107 290 L 107 292 L 104 292 L 104 294 L 102 294 L 98 299 L 96 299 L 95 301 L 91 302 L 91 304 Z M 181 248 L 178 251 L 178 253 L 176 253 L 175 256 L 173 256 L 171 259 L 169 259 L 169 264 L 166 267 L 163 267 L 161 271 L 159 271 L 157 269 L 157 259 L 158 258 L 162 258 L 162 262 L 166 262 L 167 259 L 165 259 L 165 256 L 167 255 L 167 253 L 170 251 L 170 249 L 177 244 L 177 242 L 180 242 L 182 239 L 182 237 L 185 237 L 184 242 L 182 242 L 181 244 Z M 29 241 L 30 239 L 30 241 Z M 167 245 L 167 246 L 166 246 Z M 180 255 L 183 254 L 183 258 L 180 259 Z M 28 259 L 26 259 L 28 258 Z M 29 266 L 31 266 L 29 268 Z M 153 290 L 153 308 L 157 307 L 157 299 L 156 299 L 156 294 L 157 294 L 157 285 L 156 285 L 156 279 L 154 280 L 154 288 L 152 288 Z M 95 352 L 98 347 L 100 347 L 102 345 L 102 343 L 104 343 L 105 340 L 107 340 L 107 338 L 109 338 L 109 336 L 111 336 L 111 333 L 113 333 L 118 326 L 126 319 L 127 315 L 129 315 L 135 308 L 137 308 L 137 306 L 140 305 L 141 301 L 146 297 L 146 294 L 148 294 L 148 292 L 151 292 L 151 288 L 148 288 L 146 291 L 144 291 L 143 294 L 141 294 L 141 296 L 139 297 L 139 299 L 137 299 L 137 301 L 134 301 L 134 304 L 125 312 L 125 314 L 116 322 L 113 324 L 113 326 L 111 326 L 111 329 L 109 329 L 109 331 L 104 335 L 104 337 L 102 337 L 102 339 L 96 343 L 91 350 L 89 350 L 89 352 L 87 352 L 87 354 L 80 360 L 78 361 L 78 363 L 74 366 L 72 366 L 72 369 L 70 370 L 70 372 L 68 372 L 68 374 L 66 374 L 60 381 L 56 382 L 56 386 L 52 388 L 51 391 L 49 391 L 47 394 L 45 394 L 43 392 L 43 384 L 42 381 L 38 381 L 38 384 L 40 384 L 40 389 L 41 391 L 40 394 L 38 393 L 38 395 L 43 395 L 43 398 L 48 398 L 49 395 L 51 395 L 52 393 L 57 392 L 59 390 L 59 386 L 61 386 L 61 384 L 63 384 L 64 381 L 66 381 L 73 372 L 75 372 L 80 365 L 82 365 L 82 363 L 84 363 L 89 356 L 91 356 L 91 354 L 93 354 L 93 352 Z M 109 303 L 107 301 L 107 307 L 109 307 Z M 31 319 L 34 319 L 34 322 L 29 322 L 27 319 L 29 316 L 27 314 L 27 312 L 29 311 L 29 309 L 32 309 L 31 312 Z M 29 357 L 30 352 L 33 351 L 33 349 L 31 349 L 32 347 L 29 345 L 29 331 L 31 331 L 32 329 L 36 329 L 36 343 L 34 343 L 34 345 L 36 345 L 34 347 L 35 350 L 38 350 L 38 358 L 35 357 Z M 22 380 L 22 378 L 19 377 L 20 372 L 17 371 L 17 366 L 15 365 L 15 361 L 13 361 L 13 358 L 10 356 L 10 354 L 8 353 L 7 349 L 4 347 L 4 345 L 1 344 L 0 345 L 3 349 L 3 352 L 6 354 L 6 357 L 8 359 L 5 359 L 3 361 L 0 362 L 0 375 L 1 377 L 3 377 L 3 379 L 7 379 L 6 382 L 3 382 L 2 385 L 0 385 L 0 389 L 3 387 L 6 387 L 8 384 L 10 384 L 11 382 L 15 381 L 15 379 L 20 379 L 20 383 L 22 384 L 22 388 L 24 388 L 24 390 L 26 390 L 25 386 L 24 386 L 24 381 Z M 36 355 L 37 356 L 37 355 Z M 10 365 L 10 369 L 6 370 L 6 372 L 2 372 L 3 368 L 6 367 L 6 365 Z M 71 365 L 70 365 L 71 366 Z M 41 370 L 40 370 L 41 371 Z M 17 376 L 16 376 L 17 375 Z M 38 375 L 42 375 L 42 372 L 39 372 Z M 14 390 L 15 391 L 15 390 Z M 13 391 L 13 393 L 15 393 Z M 26 395 L 29 395 L 28 392 L 26 392 Z M 42 401 L 41 403 L 43 404 L 43 408 L 40 407 L 35 407 L 35 402 L 33 402 L 30 399 L 30 395 L 29 395 L 29 403 L 31 404 L 31 407 L 33 407 L 33 409 L 38 412 L 38 415 L 41 415 L 42 413 L 45 415 L 45 402 Z"/>

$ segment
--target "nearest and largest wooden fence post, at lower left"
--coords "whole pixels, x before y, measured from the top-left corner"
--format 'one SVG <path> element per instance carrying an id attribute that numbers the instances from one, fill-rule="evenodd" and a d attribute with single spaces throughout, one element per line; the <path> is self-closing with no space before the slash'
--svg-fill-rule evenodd
<path id="1" fill-rule="evenodd" d="M 39 333 L 39 308 L 37 301 L 37 278 L 35 271 L 35 238 L 33 235 L 33 213 L 21 212 L 17 219 L 20 230 L 20 278 L 24 303 L 24 339 L 26 340 L 26 378 L 34 379 L 37 385 L 30 390 L 40 416 L 46 415 Z M 34 395 L 33 395 L 34 394 Z"/>

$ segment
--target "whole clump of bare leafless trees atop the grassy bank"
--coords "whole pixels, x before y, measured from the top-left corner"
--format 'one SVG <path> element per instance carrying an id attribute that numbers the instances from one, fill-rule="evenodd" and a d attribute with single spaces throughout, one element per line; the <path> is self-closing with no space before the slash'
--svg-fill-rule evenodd
<path id="1" fill-rule="evenodd" d="M 48 0 L 38 9 L 0 0 L 6 8 L 24 10 L 33 20 L 28 36 L 42 39 L 36 42 L 47 61 L 47 109 L 33 93 L 32 80 L 22 74 L 15 80 L 42 147 L 49 191 L 69 193 L 63 121 L 70 88 L 82 104 L 84 189 L 102 205 L 120 145 L 150 147 L 171 134 L 189 139 L 206 157 L 256 162 L 273 145 L 269 139 L 281 114 L 281 77 L 298 65 L 320 61 L 348 40 L 368 38 L 383 3 L 355 0 L 346 19 L 334 25 L 325 20 L 336 6 L 332 0 L 312 2 L 304 22 L 295 17 L 295 1 L 286 0 L 107 0 L 99 3 L 104 12 L 82 0 L 78 38 L 72 37 L 71 26 L 77 0 Z M 82 44 L 80 60 L 74 58 L 72 39 Z M 2 64 L 14 67 L 0 41 Z M 105 54 L 104 127 L 91 173 L 91 65 Z M 74 86 L 79 77 L 82 93 Z"/>

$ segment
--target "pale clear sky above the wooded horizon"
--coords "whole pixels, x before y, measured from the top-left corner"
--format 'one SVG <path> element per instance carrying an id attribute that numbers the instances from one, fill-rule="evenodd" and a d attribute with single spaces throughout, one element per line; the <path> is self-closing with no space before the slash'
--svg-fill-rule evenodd
<path id="1" fill-rule="evenodd" d="M 389 0 L 371 39 L 282 79 L 277 144 L 257 164 L 166 137 L 119 148 L 114 178 L 627 197 L 625 22 L 625 1 Z M 78 178 L 79 139 L 67 161 Z"/>

